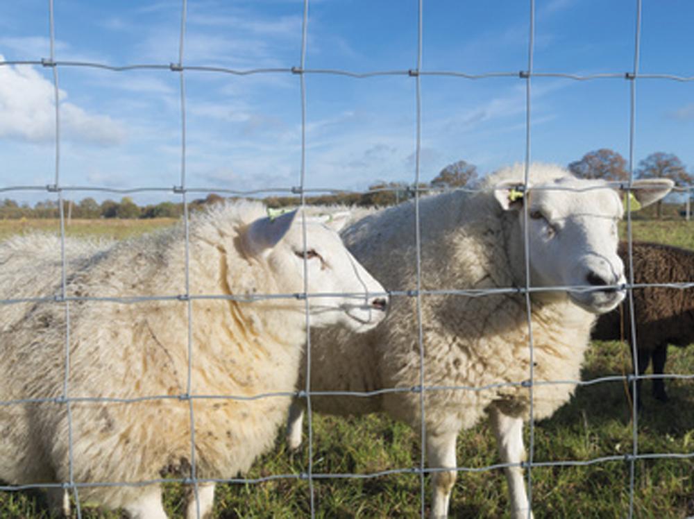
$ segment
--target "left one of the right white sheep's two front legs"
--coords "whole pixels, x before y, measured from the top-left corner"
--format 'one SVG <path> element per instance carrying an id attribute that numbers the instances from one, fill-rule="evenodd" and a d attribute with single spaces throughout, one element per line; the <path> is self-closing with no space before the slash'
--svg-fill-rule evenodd
<path id="1" fill-rule="evenodd" d="M 455 468 L 455 439 L 457 431 L 427 434 L 427 463 L 429 468 Z M 455 470 L 434 472 L 432 475 L 432 519 L 448 516 L 450 493 L 455 483 Z"/>

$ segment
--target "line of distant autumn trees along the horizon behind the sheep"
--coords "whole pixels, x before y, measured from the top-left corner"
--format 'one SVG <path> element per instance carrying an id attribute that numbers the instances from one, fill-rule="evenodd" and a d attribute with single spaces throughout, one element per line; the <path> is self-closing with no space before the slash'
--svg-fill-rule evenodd
<path id="1" fill-rule="evenodd" d="M 581 178 L 601 178 L 610 181 L 626 181 L 629 179 L 627 160 L 622 155 L 608 148 L 601 148 L 583 155 L 580 160 L 570 162 L 568 169 Z M 634 178 L 666 177 L 675 180 L 680 187 L 694 184 L 694 176 L 689 173 L 681 160 L 673 153 L 651 153 L 638 162 L 634 168 Z M 420 183 L 418 190 L 423 192 L 444 191 L 473 187 L 480 174 L 474 164 L 459 160 L 441 169 L 431 182 Z M 416 190 L 408 182 L 374 182 L 366 192 L 336 192 L 319 196 L 307 196 L 306 203 L 310 205 L 361 205 L 378 206 L 395 205 L 414 197 Z M 211 203 L 223 201 L 217 194 L 210 194 L 189 203 L 189 210 L 196 211 Z M 269 196 L 264 202 L 269 207 L 286 207 L 297 205 L 298 196 Z M 124 196 L 120 201 L 105 200 L 96 202 L 94 198 L 83 198 L 79 202 L 63 201 L 63 214 L 66 218 L 97 219 L 149 219 L 149 218 L 178 218 L 183 214 L 183 203 L 171 201 L 158 204 L 139 206 L 133 198 Z M 661 214 L 661 205 L 658 205 Z M 36 203 L 33 207 L 28 203 L 21 205 L 6 198 L 0 202 L 0 219 L 21 218 L 58 218 L 60 207 L 57 201 L 46 200 Z"/>

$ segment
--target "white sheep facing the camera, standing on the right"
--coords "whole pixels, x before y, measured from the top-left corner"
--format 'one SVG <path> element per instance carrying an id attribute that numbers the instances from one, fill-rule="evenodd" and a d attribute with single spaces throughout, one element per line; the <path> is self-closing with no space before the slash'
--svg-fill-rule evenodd
<path id="1" fill-rule="evenodd" d="M 425 450 L 430 468 L 455 468 L 461 429 L 488 416 L 498 439 L 512 515 L 524 517 L 529 504 L 520 463 L 523 420 L 529 418 L 530 348 L 525 296 L 524 204 L 528 207 L 532 287 L 579 287 L 532 291 L 534 343 L 533 416 L 550 416 L 579 380 L 595 314 L 623 299 L 625 282 L 617 255 L 620 194 L 600 180 L 578 180 L 560 167 L 534 164 L 523 196 L 523 167 L 493 174 L 483 192 L 450 192 L 420 203 L 421 287 L 425 291 L 512 289 L 470 297 L 423 293 Z M 664 196 L 669 181 L 635 183 L 642 205 Z M 576 190 L 578 189 L 578 190 Z M 634 205 L 636 205 L 634 203 Z M 366 216 L 342 233 L 351 252 L 389 291 L 416 289 L 414 204 Z M 387 319 L 356 336 L 331 327 L 312 334 L 311 389 L 375 391 L 420 385 L 416 298 L 396 297 Z M 472 389 L 442 389 L 466 386 Z M 489 388 L 486 388 L 489 386 Z M 480 388 L 486 389 L 480 389 Z M 312 409 L 331 414 L 386 411 L 421 427 L 417 391 L 384 392 L 369 398 L 315 395 Z M 301 443 L 301 402 L 292 405 L 287 439 Z M 433 474 L 432 517 L 446 516 L 455 470 Z"/>

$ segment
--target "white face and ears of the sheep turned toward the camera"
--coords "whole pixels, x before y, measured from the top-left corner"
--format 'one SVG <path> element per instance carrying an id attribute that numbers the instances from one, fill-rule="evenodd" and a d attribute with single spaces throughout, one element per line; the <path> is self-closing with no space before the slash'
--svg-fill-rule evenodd
<path id="1" fill-rule="evenodd" d="M 643 190 L 634 195 L 642 206 L 662 198 L 672 187 L 657 180 L 634 182 L 639 184 Z M 525 195 L 510 185 L 496 190 L 502 207 L 517 213 L 516 241 L 521 243 L 523 206 L 528 205 L 532 287 L 573 287 L 566 290 L 568 297 L 595 314 L 609 312 L 624 299 L 624 264 L 617 255 L 622 196 L 602 180 L 573 177 L 531 185 Z M 557 291 L 538 297 L 552 294 L 556 296 Z"/>

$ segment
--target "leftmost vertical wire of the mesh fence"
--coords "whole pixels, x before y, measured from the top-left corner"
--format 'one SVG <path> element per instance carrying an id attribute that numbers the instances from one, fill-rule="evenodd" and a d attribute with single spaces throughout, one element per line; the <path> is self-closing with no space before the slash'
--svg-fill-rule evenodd
<path id="1" fill-rule="evenodd" d="M 72 404 L 70 400 L 70 302 L 67 300 L 67 259 L 65 255 L 65 207 L 63 207 L 62 191 L 60 189 L 60 83 L 58 81 L 58 67 L 56 67 L 56 22 L 53 0 L 49 0 L 49 37 L 50 37 L 50 61 L 49 66 L 53 72 L 53 102 L 56 105 L 56 176 L 53 189 L 58 194 L 58 210 L 60 215 L 60 300 L 65 305 L 65 376 L 62 385 L 62 397 L 60 403 L 65 404 L 67 416 L 67 448 L 68 448 L 68 479 L 67 488 L 70 488 L 75 500 L 78 518 L 82 517 L 82 509 L 79 502 L 79 492 L 74 478 L 74 430 L 72 423 Z M 57 492 L 57 491 L 56 491 Z M 65 498 L 65 496 L 63 496 Z"/>

